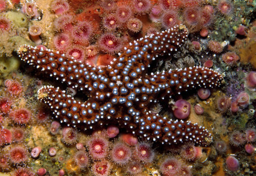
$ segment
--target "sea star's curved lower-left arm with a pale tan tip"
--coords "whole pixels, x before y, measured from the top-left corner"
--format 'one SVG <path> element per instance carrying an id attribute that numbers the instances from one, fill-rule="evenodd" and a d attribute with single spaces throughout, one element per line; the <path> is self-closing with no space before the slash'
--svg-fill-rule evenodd
<path id="1" fill-rule="evenodd" d="M 55 118 L 61 123 L 81 130 L 102 127 L 107 124 L 126 128 L 136 127 L 127 108 L 113 102 L 100 102 L 89 98 L 81 102 L 66 94 L 66 91 L 53 86 L 43 86 L 37 91 L 38 99 L 48 105 Z M 133 124 L 133 125 L 132 125 Z"/>

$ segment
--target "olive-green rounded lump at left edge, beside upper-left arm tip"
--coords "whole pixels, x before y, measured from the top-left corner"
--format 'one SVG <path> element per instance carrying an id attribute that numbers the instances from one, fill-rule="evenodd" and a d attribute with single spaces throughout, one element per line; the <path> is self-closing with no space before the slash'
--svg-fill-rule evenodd
<path id="1" fill-rule="evenodd" d="M 0 57 L 0 76 L 5 76 L 13 70 L 17 70 L 20 66 L 20 60 L 17 57 Z"/>

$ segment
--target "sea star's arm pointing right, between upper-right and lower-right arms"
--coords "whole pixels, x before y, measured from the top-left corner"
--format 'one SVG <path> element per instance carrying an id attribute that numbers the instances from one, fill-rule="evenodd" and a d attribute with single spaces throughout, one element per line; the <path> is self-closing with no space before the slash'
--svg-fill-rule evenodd
<path id="1" fill-rule="evenodd" d="M 158 93 L 158 98 L 171 98 L 173 94 L 195 89 L 220 87 L 223 77 L 211 68 L 194 66 L 184 69 L 169 70 L 167 72 L 147 76 L 150 88 Z"/>

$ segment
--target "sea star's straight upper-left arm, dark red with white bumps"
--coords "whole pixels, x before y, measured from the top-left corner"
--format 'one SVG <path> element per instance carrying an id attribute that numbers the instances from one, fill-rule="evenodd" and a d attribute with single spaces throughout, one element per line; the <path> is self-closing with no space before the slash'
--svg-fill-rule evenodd
<path id="1" fill-rule="evenodd" d="M 103 72 L 100 68 L 82 64 L 50 49 L 23 45 L 18 49 L 18 54 L 27 64 L 75 89 L 94 91 L 93 80 Z"/>

